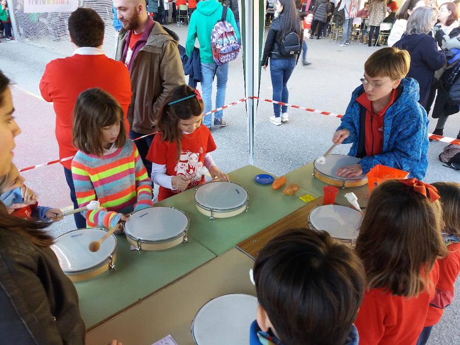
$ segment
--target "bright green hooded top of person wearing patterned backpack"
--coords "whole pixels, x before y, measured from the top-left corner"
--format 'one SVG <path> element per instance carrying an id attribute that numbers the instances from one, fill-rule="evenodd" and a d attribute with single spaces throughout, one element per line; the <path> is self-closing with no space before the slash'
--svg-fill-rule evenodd
<path id="1" fill-rule="evenodd" d="M 195 46 L 195 39 L 198 37 L 200 43 L 200 60 L 205 63 L 212 63 L 213 53 L 211 50 L 211 31 L 216 25 L 217 21 L 222 17 L 223 6 L 217 0 L 201 0 L 197 6 L 196 11 L 193 12 L 190 18 L 189 33 L 186 42 L 186 54 L 191 56 L 193 47 Z M 235 16 L 233 12 L 228 9 L 226 20 L 232 24 L 235 29 L 237 38 L 240 38 Z"/>

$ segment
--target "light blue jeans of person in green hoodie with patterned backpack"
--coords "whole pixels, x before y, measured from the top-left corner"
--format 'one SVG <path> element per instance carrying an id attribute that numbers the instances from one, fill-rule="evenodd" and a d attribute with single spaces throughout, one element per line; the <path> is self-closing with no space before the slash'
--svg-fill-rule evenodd
<path id="1" fill-rule="evenodd" d="M 213 110 L 212 91 L 214 75 L 217 76 L 217 93 L 216 93 L 216 108 L 220 108 L 225 103 L 225 89 L 227 88 L 228 78 L 228 63 L 217 65 L 215 62 L 201 62 L 201 92 L 204 103 L 204 111 Z M 214 113 L 214 118 L 222 119 L 222 110 Z M 206 115 L 203 118 L 203 125 L 211 127 L 212 114 Z"/>

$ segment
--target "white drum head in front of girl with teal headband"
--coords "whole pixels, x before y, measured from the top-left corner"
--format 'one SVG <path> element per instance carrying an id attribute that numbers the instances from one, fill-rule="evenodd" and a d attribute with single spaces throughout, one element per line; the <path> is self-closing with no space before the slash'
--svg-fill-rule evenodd
<path id="1" fill-rule="evenodd" d="M 229 211 L 246 204 L 247 192 L 236 183 L 210 182 L 198 188 L 195 201 L 204 209 Z"/>

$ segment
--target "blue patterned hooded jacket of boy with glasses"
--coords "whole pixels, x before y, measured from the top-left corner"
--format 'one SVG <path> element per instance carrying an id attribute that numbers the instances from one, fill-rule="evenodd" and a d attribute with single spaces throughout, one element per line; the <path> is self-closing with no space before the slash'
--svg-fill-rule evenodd
<path id="1" fill-rule="evenodd" d="M 398 88 L 401 88 L 399 97 L 385 112 L 382 153 L 364 156 L 360 163 L 364 174 L 375 165 L 381 164 L 407 171 L 409 177 L 421 180 L 428 168 L 428 117 L 425 109 L 418 103 L 419 83 L 415 79 L 402 79 Z M 348 154 L 355 157 L 358 156 L 360 134 L 362 135 L 360 113 L 364 109 L 356 99 L 363 92 L 362 85 L 353 91 L 342 123 L 337 128 L 350 131 L 350 136 L 342 144 L 353 143 Z"/>

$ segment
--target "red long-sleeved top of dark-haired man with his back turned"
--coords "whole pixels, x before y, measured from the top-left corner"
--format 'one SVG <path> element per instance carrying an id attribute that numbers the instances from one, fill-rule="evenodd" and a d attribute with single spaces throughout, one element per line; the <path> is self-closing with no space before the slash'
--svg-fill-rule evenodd
<path id="1" fill-rule="evenodd" d="M 74 104 L 78 95 L 91 87 L 104 89 L 120 103 L 125 117 L 125 128 L 129 131 L 126 114 L 131 103 L 131 80 L 123 62 L 109 59 L 105 55 L 80 54 L 52 60 L 41 77 L 40 92 L 45 101 L 53 102 L 56 112 L 59 158 L 77 153 L 72 143 Z M 72 169 L 72 160 L 61 164 Z"/>

